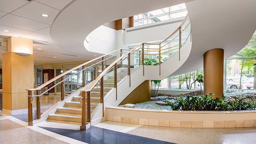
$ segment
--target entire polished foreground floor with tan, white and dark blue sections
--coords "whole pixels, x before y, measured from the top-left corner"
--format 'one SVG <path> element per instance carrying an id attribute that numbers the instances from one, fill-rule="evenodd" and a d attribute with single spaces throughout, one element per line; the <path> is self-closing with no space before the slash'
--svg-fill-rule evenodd
<path id="1" fill-rule="evenodd" d="M 53 122 L 28 126 L 25 117 L 0 111 L 0 144 L 256 144 L 256 127 L 172 128 L 104 121 L 80 131 L 78 125 Z"/>

